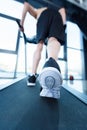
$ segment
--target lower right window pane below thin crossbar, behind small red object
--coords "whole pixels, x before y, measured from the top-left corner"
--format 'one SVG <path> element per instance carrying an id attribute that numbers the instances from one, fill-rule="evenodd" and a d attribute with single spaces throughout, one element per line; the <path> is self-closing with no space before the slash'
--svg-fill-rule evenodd
<path id="1" fill-rule="evenodd" d="M 74 49 L 67 50 L 67 58 L 68 58 L 68 77 L 70 75 L 74 76 L 74 79 L 82 79 L 83 73 L 82 72 L 82 51 L 77 51 Z"/>

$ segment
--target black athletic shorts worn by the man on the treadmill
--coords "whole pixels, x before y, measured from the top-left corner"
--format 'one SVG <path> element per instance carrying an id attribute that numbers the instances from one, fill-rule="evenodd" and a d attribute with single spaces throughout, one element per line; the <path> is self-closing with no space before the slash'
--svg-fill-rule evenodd
<path id="1" fill-rule="evenodd" d="M 41 13 L 37 22 L 37 43 L 40 40 L 45 42 L 46 38 L 50 37 L 55 37 L 61 45 L 65 43 L 62 17 L 57 10 L 48 8 Z"/>

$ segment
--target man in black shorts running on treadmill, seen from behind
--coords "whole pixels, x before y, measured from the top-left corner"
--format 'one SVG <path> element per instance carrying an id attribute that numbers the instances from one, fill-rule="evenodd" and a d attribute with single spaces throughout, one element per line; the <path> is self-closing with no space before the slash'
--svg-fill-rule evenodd
<path id="1" fill-rule="evenodd" d="M 58 93 L 55 94 L 48 92 L 51 88 L 58 88 L 62 84 L 62 76 L 59 66 L 57 64 L 58 55 L 61 45 L 65 43 L 65 30 L 66 13 L 64 8 L 58 10 L 52 8 L 39 8 L 35 9 L 26 0 L 24 2 L 22 18 L 21 18 L 21 31 L 24 31 L 24 20 L 26 14 L 30 13 L 37 19 L 37 47 L 33 56 L 32 74 L 28 77 L 27 85 L 33 86 L 36 82 L 36 73 L 39 61 L 41 59 L 41 52 L 45 40 L 47 39 L 47 54 L 48 60 L 46 61 L 42 72 L 39 75 L 39 82 L 42 86 L 41 96 L 58 98 Z M 56 77 L 55 77 L 56 76 Z M 46 90 L 46 91 L 45 91 Z M 44 91 L 44 92 L 43 92 Z M 57 91 L 58 92 L 58 91 Z M 49 94 L 46 94 L 49 93 Z"/>

